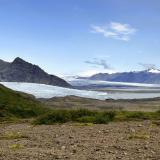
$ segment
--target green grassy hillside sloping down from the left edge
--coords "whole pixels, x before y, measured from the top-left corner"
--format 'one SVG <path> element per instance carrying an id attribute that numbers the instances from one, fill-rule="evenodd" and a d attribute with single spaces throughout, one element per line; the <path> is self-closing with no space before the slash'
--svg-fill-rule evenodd
<path id="1" fill-rule="evenodd" d="M 13 118 L 30 118 L 47 109 L 34 97 L 0 85 L 0 121 Z"/>

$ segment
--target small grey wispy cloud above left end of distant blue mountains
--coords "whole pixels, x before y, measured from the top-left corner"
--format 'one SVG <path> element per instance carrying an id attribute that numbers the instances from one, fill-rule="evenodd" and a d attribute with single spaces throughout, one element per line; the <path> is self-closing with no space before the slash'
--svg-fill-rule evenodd
<path id="1" fill-rule="evenodd" d="M 100 67 L 103 67 L 104 69 L 111 69 L 111 67 L 108 65 L 107 61 L 104 59 L 94 58 L 91 61 L 85 61 L 85 63 L 90 64 L 92 66 L 100 66 Z"/>

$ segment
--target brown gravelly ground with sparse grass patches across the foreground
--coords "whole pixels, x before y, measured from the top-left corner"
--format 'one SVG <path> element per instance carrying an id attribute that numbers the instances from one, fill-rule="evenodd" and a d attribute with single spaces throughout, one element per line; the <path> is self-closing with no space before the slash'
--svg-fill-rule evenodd
<path id="1" fill-rule="evenodd" d="M 160 123 L 0 125 L 0 160 L 159 160 Z"/>

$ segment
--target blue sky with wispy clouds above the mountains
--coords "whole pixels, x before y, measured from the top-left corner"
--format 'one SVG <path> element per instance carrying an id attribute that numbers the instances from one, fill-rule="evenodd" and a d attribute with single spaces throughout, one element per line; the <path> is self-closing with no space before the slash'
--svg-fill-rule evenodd
<path id="1" fill-rule="evenodd" d="M 58 76 L 160 67 L 159 0 L 0 0 L 0 59 Z"/>

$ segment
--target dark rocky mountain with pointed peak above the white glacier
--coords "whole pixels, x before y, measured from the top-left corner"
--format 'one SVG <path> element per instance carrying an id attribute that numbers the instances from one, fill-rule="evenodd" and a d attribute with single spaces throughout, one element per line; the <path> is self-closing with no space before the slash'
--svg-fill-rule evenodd
<path id="1" fill-rule="evenodd" d="M 1 82 L 30 82 L 61 87 L 71 87 L 65 80 L 49 75 L 39 66 L 33 65 L 17 57 L 12 63 L 0 60 Z"/>

